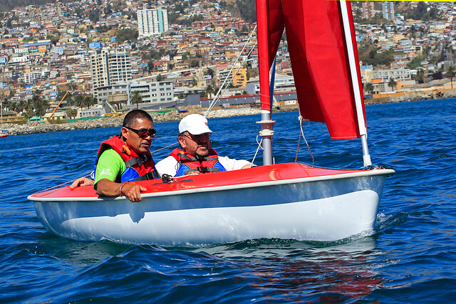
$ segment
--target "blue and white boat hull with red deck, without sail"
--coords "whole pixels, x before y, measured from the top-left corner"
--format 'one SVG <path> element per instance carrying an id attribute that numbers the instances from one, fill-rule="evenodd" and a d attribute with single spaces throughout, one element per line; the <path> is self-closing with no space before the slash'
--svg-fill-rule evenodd
<path id="1" fill-rule="evenodd" d="M 297 176 L 288 178 L 291 172 Z M 276 164 L 224 173 L 229 172 L 184 177 L 187 180 L 172 189 L 166 189 L 167 184 L 149 186 L 140 203 L 56 193 L 29 199 L 48 231 L 78 241 L 160 246 L 259 238 L 336 241 L 373 229 L 385 177 L 393 170 L 345 172 Z M 233 174 L 238 180 L 229 181 Z M 277 178 L 281 176 L 285 178 Z M 212 184 L 198 186 L 210 177 Z M 197 185 L 189 187 L 192 183 Z"/>

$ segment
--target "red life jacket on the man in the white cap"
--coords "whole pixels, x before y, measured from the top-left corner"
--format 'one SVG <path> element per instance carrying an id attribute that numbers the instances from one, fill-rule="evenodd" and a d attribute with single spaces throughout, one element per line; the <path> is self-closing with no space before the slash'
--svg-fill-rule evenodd
<path id="1" fill-rule="evenodd" d="M 170 156 L 174 157 L 179 162 L 179 168 L 175 177 L 189 174 L 191 172 L 223 172 L 227 171 L 222 164 L 219 163 L 219 156 L 214 150 L 209 151 L 207 157 L 194 157 L 192 154 L 188 154 L 185 151 L 176 148 L 172 150 Z"/>

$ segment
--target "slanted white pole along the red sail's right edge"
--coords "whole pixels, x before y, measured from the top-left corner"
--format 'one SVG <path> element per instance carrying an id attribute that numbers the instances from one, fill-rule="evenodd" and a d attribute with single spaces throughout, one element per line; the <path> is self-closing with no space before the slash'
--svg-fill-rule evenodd
<path id="1" fill-rule="evenodd" d="M 348 20 L 348 10 L 347 10 L 347 3 L 345 0 L 340 0 L 339 3 L 341 4 L 341 15 L 343 20 L 343 31 L 345 34 L 345 41 L 347 46 L 348 52 L 348 63 L 350 65 L 350 73 L 351 73 L 351 83 L 353 85 L 353 94 L 355 95 L 355 106 L 356 106 L 356 117 L 358 118 L 358 129 L 359 134 L 361 135 L 361 145 L 363 147 L 363 164 L 364 166 L 370 166 L 371 162 L 371 154 L 369 154 L 368 149 L 368 133 L 366 130 L 366 121 L 364 120 L 363 114 L 363 104 L 361 101 L 361 92 L 359 89 L 359 82 L 358 82 L 358 69 L 356 67 L 356 60 L 355 60 L 355 52 L 353 51 L 353 41 L 351 39 L 351 28 L 350 28 L 350 21 Z"/>

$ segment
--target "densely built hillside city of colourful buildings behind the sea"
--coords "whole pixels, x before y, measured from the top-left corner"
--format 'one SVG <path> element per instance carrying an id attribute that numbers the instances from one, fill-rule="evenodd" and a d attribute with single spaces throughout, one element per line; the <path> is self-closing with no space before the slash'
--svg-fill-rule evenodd
<path id="1" fill-rule="evenodd" d="M 0 11 L 2 122 L 204 108 L 227 78 L 218 106 L 254 106 L 255 20 L 238 2 L 81 0 Z M 366 100 L 452 95 L 455 4 L 353 1 L 352 11 Z M 285 38 L 276 74 L 276 104 L 296 104 Z"/>

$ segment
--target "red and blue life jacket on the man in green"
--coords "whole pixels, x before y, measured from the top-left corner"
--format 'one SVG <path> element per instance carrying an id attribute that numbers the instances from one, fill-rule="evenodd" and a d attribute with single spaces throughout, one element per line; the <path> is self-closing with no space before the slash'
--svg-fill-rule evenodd
<path id="1" fill-rule="evenodd" d="M 146 154 L 138 155 L 125 142 L 120 140 L 120 135 L 115 135 L 101 143 L 98 149 L 97 159 L 95 160 L 95 177 L 98 159 L 109 147 L 113 148 L 115 152 L 118 152 L 125 162 L 125 171 L 122 172 L 120 180 L 118 180 L 119 178 L 116 179 L 116 182 L 138 182 L 146 179 L 160 178 L 150 152 L 147 151 Z"/>

